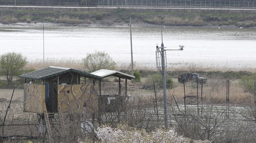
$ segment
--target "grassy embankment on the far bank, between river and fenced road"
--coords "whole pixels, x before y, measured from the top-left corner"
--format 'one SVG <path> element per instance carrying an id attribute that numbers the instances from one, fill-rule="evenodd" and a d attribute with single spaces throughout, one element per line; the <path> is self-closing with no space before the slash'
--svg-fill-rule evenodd
<path id="1" fill-rule="evenodd" d="M 52 22 L 66 24 L 92 24 L 112 25 L 114 23 L 149 23 L 170 26 L 204 26 L 204 25 L 236 25 L 237 27 L 256 26 L 256 14 L 242 13 L 178 13 L 157 11 L 131 11 L 129 9 L 97 10 L 83 12 L 57 12 L 57 11 L 24 11 L 0 10 L 1 23 L 37 23 Z"/>

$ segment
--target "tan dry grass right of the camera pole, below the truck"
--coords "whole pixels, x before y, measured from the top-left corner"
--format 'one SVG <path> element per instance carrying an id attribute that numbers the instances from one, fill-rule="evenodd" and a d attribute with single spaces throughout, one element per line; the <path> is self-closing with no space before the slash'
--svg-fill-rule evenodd
<path id="1" fill-rule="evenodd" d="M 229 103 L 233 106 L 251 105 L 254 102 L 254 95 L 252 93 L 244 92 L 244 89 L 238 85 L 236 80 L 229 82 L 229 89 L 227 89 L 226 80 L 219 79 L 216 83 L 210 79 L 207 82 L 207 84 L 203 85 L 202 90 L 201 85 L 198 85 L 198 94 L 196 83 L 185 83 L 186 102 L 189 104 L 196 104 L 197 95 L 199 102 L 201 102 L 200 98 L 202 95 L 204 104 L 225 105 L 227 102 L 227 92 Z M 180 104 L 184 104 L 184 85 L 182 83 L 177 83 L 176 86 L 176 88 L 168 90 L 168 100 L 174 100 L 174 95 L 176 98 L 175 100 Z"/>

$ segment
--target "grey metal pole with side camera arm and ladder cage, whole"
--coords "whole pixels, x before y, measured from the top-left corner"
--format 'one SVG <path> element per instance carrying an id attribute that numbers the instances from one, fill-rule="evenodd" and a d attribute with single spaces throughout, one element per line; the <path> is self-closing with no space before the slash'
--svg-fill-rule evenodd
<path id="1" fill-rule="evenodd" d="M 166 57 L 165 53 L 166 50 L 163 43 L 163 30 L 162 30 L 162 24 L 161 24 L 161 34 L 162 34 L 162 44 L 161 47 L 158 47 L 158 44 L 156 45 L 156 60 L 157 60 L 157 68 L 161 71 L 160 68 L 162 68 L 162 75 L 163 75 L 163 94 L 164 94 L 164 114 L 165 114 L 165 128 L 168 129 L 168 114 L 167 114 L 167 96 L 166 96 L 166 74 L 165 74 L 165 68 L 166 66 Z M 177 49 L 179 51 L 183 50 L 183 45 L 180 45 L 180 48 Z M 161 49 L 161 50 L 160 50 Z M 161 60 L 161 62 L 160 62 Z"/>

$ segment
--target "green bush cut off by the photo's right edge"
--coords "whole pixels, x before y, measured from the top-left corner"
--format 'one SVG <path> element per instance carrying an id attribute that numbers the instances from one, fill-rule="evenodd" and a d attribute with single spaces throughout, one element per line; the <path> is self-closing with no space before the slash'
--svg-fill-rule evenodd
<path id="1" fill-rule="evenodd" d="M 256 74 L 252 76 L 244 75 L 239 81 L 239 85 L 246 91 L 254 93 L 254 82 L 256 81 Z"/>

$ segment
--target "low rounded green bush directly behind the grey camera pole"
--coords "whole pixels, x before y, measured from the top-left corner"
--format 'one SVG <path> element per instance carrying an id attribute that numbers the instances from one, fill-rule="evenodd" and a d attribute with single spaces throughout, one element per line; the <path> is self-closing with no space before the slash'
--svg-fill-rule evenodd
<path id="1" fill-rule="evenodd" d="M 143 84 L 143 89 L 154 89 L 154 82 L 156 88 L 163 88 L 163 76 L 160 74 L 150 75 L 145 83 Z M 166 77 L 166 88 L 173 88 L 174 81 L 171 77 Z"/>

